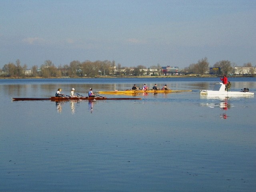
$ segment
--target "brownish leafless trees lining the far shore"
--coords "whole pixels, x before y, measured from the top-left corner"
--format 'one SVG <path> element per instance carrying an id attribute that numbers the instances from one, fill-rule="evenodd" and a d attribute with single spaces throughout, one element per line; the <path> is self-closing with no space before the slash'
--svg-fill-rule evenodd
<path id="1" fill-rule="evenodd" d="M 212 67 L 220 67 L 220 75 L 221 74 L 230 74 L 233 73 L 234 67 L 236 64 L 231 63 L 228 60 L 222 60 L 216 62 Z M 252 67 L 250 62 L 245 63 L 243 67 Z M 43 78 L 50 78 L 50 77 L 97 77 L 97 76 L 111 76 L 111 75 L 118 75 L 118 76 L 142 76 L 144 74 L 149 74 L 150 69 L 154 69 L 157 72 L 153 75 L 160 75 L 159 72 L 162 69 L 160 64 L 156 66 L 150 66 L 150 68 L 146 68 L 143 65 L 138 65 L 134 67 L 122 67 L 121 64 L 117 64 L 115 61 L 104 60 L 100 61 L 97 60 L 95 62 L 86 60 L 84 62 L 80 62 L 78 60 L 74 60 L 70 62 L 70 64 L 65 64 L 64 66 L 56 67 L 51 60 L 44 61 L 40 67 L 34 65 L 31 69 L 28 70 L 26 64 L 23 66 L 20 63 L 20 60 L 16 60 L 16 63 L 9 62 L 5 64 L 2 70 L 0 70 L 1 77 L 10 77 L 10 78 L 25 78 L 25 77 L 43 77 Z M 196 64 L 190 64 L 188 67 L 182 69 L 185 74 L 200 74 L 204 75 L 209 70 L 209 62 L 208 59 L 202 58 L 198 60 Z M 254 70 L 254 69 L 253 69 Z M 254 72 L 250 71 L 250 74 Z"/>

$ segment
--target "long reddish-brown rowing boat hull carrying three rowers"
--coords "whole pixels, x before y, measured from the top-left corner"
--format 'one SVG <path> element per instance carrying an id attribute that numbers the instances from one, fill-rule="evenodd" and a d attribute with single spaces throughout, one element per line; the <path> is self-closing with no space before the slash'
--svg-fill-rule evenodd
<path id="1" fill-rule="evenodd" d="M 50 98 L 12 98 L 13 101 L 32 101 L 32 100 L 140 100 L 141 98 L 106 98 L 106 97 L 50 97 Z"/>

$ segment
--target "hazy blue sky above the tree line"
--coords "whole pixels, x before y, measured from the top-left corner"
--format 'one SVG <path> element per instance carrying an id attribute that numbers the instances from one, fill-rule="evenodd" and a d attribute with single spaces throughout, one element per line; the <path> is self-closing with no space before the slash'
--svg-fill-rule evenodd
<path id="1" fill-rule="evenodd" d="M 51 60 L 256 66 L 255 0 L 0 0 L 0 68 Z"/>

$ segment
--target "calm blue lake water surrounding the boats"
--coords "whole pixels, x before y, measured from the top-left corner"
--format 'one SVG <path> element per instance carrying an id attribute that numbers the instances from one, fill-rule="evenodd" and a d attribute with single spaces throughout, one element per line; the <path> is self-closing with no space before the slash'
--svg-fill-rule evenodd
<path id="1" fill-rule="evenodd" d="M 229 78 L 231 90 L 255 78 Z M 209 98 L 219 78 L 0 80 L 0 191 L 252 192 L 256 190 L 256 100 Z M 102 95 L 142 100 L 17 101 L 150 88 L 168 94 Z"/>

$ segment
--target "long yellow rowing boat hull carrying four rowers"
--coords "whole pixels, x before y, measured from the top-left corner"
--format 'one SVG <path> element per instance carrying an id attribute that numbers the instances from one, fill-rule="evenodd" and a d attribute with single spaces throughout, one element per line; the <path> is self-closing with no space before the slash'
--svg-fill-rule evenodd
<path id="1" fill-rule="evenodd" d="M 192 90 L 115 90 L 115 91 L 98 91 L 99 94 L 138 94 L 138 93 L 176 93 L 190 92 Z"/>

